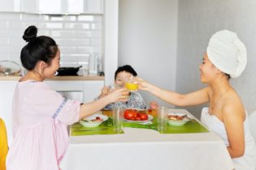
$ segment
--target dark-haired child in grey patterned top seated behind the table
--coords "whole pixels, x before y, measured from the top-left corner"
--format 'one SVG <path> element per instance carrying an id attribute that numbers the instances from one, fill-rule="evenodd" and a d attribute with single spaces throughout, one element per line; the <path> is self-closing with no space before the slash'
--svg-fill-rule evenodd
<path id="1" fill-rule="evenodd" d="M 132 68 L 132 66 L 119 66 L 119 68 L 115 71 L 115 87 L 124 87 L 126 79 L 130 78 L 131 76 L 137 76 L 137 72 Z M 102 93 L 98 98 L 100 99 L 103 96 L 108 95 L 111 92 L 111 90 L 111 87 L 103 87 Z M 127 102 L 117 102 L 115 104 L 108 104 L 106 105 L 105 109 L 112 109 L 114 107 L 145 109 L 146 104 L 141 94 L 139 94 L 137 91 L 131 91 L 130 97 L 128 98 Z"/>

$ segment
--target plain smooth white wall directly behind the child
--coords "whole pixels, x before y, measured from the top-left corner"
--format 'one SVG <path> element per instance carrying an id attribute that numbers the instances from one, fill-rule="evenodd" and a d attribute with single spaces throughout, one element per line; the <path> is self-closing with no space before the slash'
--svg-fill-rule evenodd
<path id="1" fill-rule="evenodd" d="M 177 19 L 178 0 L 119 0 L 118 65 L 129 64 L 139 77 L 175 90 Z"/>

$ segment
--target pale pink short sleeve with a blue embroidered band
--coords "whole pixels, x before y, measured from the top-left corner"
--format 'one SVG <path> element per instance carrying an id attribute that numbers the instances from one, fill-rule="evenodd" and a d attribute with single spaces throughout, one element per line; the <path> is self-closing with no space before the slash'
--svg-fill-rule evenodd
<path id="1" fill-rule="evenodd" d="M 79 120 L 80 102 L 69 100 L 57 91 L 50 89 L 46 83 L 35 83 L 28 96 L 28 105 L 33 113 L 42 117 L 53 117 L 66 125 Z"/>

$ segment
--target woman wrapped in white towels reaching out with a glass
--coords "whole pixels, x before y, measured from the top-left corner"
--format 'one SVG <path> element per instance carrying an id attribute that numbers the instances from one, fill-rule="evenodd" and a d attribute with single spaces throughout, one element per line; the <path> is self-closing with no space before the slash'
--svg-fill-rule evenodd
<path id="1" fill-rule="evenodd" d="M 209 103 L 209 108 L 202 109 L 202 123 L 223 139 L 236 170 L 253 170 L 256 168 L 256 148 L 249 131 L 248 115 L 229 83 L 230 77 L 241 75 L 246 62 L 245 45 L 235 32 L 223 30 L 210 38 L 199 66 L 201 81 L 208 87 L 182 95 L 163 90 L 143 79 L 137 79 L 137 82 L 141 90 L 150 91 L 170 104 L 187 106 Z"/>

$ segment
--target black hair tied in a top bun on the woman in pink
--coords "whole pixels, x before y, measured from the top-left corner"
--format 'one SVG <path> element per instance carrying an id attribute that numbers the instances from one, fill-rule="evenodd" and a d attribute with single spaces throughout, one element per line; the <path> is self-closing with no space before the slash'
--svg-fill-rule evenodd
<path id="1" fill-rule="evenodd" d="M 58 51 L 58 45 L 49 36 L 37 36 L 37 28 L 29 26 L 23 39 L 28 42 L 21 50 L 20 60 L 27 70 L 33 70 L 37 62 L 43 61 L 50 64 Z"/>

